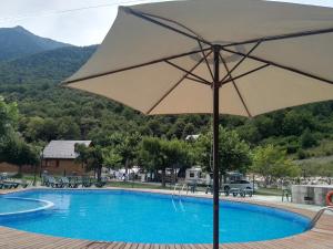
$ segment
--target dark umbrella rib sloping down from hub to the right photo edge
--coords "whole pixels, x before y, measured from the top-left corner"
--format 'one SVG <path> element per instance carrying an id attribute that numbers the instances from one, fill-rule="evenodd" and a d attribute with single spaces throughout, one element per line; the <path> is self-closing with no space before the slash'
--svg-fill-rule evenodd
<path id="1" fill-rule="evenodd" d="M 224 51 L 226 51 L 226 52 L 230 52 L 230 53 L 234 53 L 234 54 L 239 54 L 241 56 L 245 56 L 245 54 L 241 53 L 241 52 L 232 51 L 232 50 L 229 50 L 229 49 L 225 49 L 225 48 L 221 48 L 221 49 L 224 50 Z M 333 81 L 331 81 L 331 80 L 327 80 L 327 79 L 324 79 L 324 77 L 320 77 L 320 76 L 311 74 L 311 73 L 306 73 L 306 72 L 304 72 L 302 70 L 297 70 L 297 69 L 294 69 L 294 68 L 291 68 L 291 66 L 287 66 L 287 65 L 282 65 L 280 63 L 276 63 L 276 62 L 273 62 L 273 61 L 269 61 L 269 60 L 265 60 L 265 59 L 262 59 L 262 58 L 253 56 L 253 55 L 248 55 L 248 58 L 250 58 L 250 59 L 252 59 L 254 61 L 259 61 L 259 62 L 262 62 L 262 63 L 274 65 L 274 66 L 280 68 L 280 69 L 284 69 L 286 71 L 291 71 L 293 73 L 301 74 L 303 76 L 307 76 L 307 77 L 311 77 L 311 79 L 314 79 L 314 80 L 317 80 L 317 81 L 322 81 L 322 82 L 325 82 L 325 83 L 329 83 L 329 84 L 333 84 Z"/>

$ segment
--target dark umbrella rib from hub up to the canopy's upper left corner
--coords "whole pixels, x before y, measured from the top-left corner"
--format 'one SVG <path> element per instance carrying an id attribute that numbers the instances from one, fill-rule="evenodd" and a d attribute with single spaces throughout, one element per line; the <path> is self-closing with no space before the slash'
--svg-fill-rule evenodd
<path id="1" fill-rule="evenodd" d="M 179 22 L 176 22 L 176 21 L 169 20 L 169 19 L 162 18 L 162 17 L 158 17 L 158 15 L 153 15 L 153 14 L 148 14 L 148 13 L 144 13 L 144 12 L 141 12 L 141 11 L 137 11 L 137 10 L 133 10 L 133 9 L 131 9 L 131 8 L 129 8 L 129 7 L 122 7 L 122 9 L 123 9 L 127 13 L 133 14 L 134 17 L 141 18 L 141 19 L 143 19 L 143 20 L 145 20 L 145 21 L 149 21 L 149 22 L 151 22 L 151 23 L 158 24 L 158 25 L 163 27 L 163 28 L 165 28 L 165 29 L 172 30 L 172 31 L 174 31 L 174 32 L 176 32 L 176 33 L 180 33 L 180 34 L 184 35 L 184 37 L 191 38 L 191 39 L 193 39 L 193 40 L 195 40 L 195 41 L 201 41 L 201 42 L 204 43 L 204 44 L 212 45 L 211 42 L 209 42 L 209 41 L 202 39 L 202 38 L 199 37 L 195 32 L 193 32 L 191 29 L 186 28 L 185 25 L 183 25 L 183 24 L 181 24 L 181 23 L 179 23 Z M 158 20 L 155 20 L 155 19 L 153 19 L 153 18 L 151 18 L 151 17 L 153 17 L 153 18 L 159 18 L 159 19 L 164 20 L 164 21 L 173 22 L 173 23 L 175 23 L 175 24 L 178 24 L 178 25 L 180 25 L 180 27 L 186 29 L 188 31 L 191 31 L 191 32 L 194 33 L 195 35 L 190 34 L 190 33 L 186 33 L 186 32 L 184 32 L 184 31 L 182 31 L 182 30 L 179 30 L 179 29 L 176 29 L 176 28 L 174 28 L 174 27 L 171 27 L 171 25 L 168 25 L 168 24 L 165 24 L 165 23 L 162 23 L 162 22 L 160 22 L 160 21 L 158 21 Z"/>

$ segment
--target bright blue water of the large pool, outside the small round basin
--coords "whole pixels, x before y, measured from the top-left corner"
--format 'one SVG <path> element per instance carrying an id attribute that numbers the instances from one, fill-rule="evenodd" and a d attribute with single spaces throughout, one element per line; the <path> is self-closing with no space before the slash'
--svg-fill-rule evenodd
<path id="1" fill-rule="evenodd" d="M 0 216 L 0 226 L 104 241 L 212 242 L 210 199 L 127 190 L 46 189 L 10 196 L 44 199 L 54 206 L 29 216 Z M 0 197 L 0 206 L 2 201 Z M 310 222 L 293 212 L 235 201 L 221 201 L 220 216 L 222 242 L 282 238 L 304 231 Z"/>

